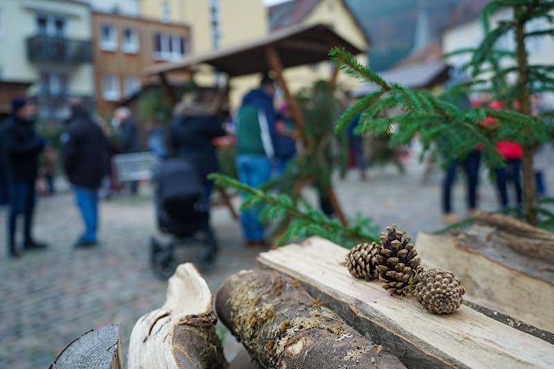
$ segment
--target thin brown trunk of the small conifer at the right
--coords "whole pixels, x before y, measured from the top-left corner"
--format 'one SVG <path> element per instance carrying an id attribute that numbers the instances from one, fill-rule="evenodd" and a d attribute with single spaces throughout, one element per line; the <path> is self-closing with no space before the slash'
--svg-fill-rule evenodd
<path id="1" fill-rule="evenodd" d="M 531 102 L 529 93 L 529 66 L 527 61 L 527 50 L 525 48 L 525 23 L 519 21 L 523 12 L 523 7 L 518 6 L 515 9 L 515 42 L 517 53 L 517 68 L 519 85 L 519 104 L 520 111 L 523 114 L 531 115 Z M 533 170 L 534 145 L 524 145 L 523 155 L 521 156 L 521 169 L 523 172 L 523 195 L 524 211 L 527 222 L 537 224 L 537 192 L 535 188 L 535 171 Z"/>

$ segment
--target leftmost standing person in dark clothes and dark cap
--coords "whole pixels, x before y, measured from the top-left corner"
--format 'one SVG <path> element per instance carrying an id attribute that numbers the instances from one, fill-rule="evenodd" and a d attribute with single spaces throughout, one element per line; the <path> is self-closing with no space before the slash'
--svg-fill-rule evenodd
<path id="1" fill-rule="evenodd" d="M 31 235 L 39 154 L 44 149 L 44 139 L 33 129 L 35 115 L 36 107 L 33 103 L 19 98 L 12 100 L 12 114 L 2 135 L 10 204 L 8 253 L 12 258 L 20 255 L 15 246 L 15 231 L 19 215 L 24 217 L 24 249 L 46 247 L 46 244 L 35 242 Z"/>

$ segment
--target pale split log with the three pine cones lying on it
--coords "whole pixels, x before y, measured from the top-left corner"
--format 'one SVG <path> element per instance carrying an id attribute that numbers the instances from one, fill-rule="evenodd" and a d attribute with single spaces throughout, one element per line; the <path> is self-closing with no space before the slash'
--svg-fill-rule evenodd
<path id="1" fill-rule="evenodd" d="M 414 298 L 392 296 L 379 281 L 350 276 L 347 249 L 321 238 L 261 253 L 263 266 L 286 273 L 328 303 L 409 368 L 554 367 L 554 345 L 462 306 L 438 316 Z M 548 305 L 544 309 L 548 309 Z"/>

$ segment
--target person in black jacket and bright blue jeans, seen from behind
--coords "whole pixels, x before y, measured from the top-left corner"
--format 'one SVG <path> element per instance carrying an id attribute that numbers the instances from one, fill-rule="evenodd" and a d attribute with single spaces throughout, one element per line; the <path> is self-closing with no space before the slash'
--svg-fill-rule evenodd
<path id="1" fill-rule="evenodd" d="M 64 170 L 77 201 L 85 231 L 75 247 L 96 245 L 98 188 L 107 173 L 108 146 L 104 132 L 79 101 L 71 103 L 71 118 L 62 134 Z"/>

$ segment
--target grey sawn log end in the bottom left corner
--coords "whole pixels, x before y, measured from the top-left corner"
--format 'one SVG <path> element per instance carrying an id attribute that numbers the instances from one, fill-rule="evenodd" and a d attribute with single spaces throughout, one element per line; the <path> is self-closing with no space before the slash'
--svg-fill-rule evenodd
<path id="1" fill-rule="evenodd" d="M 57 355 L 50 369 L 123 369 L 118 325 L 83 334 Z"/>

